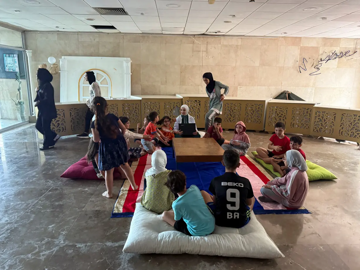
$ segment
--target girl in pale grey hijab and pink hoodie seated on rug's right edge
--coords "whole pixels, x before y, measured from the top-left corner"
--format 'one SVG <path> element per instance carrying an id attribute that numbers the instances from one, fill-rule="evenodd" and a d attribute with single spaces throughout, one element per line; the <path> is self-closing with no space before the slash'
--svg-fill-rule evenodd
<path id="1" fill-rule="evenodd" d="M 291 171 L 284 177 L 276 177 L 262 186 L 260 202 L 278 202 L 289 208 L 300 208 L 309 190 L 307 178 L 307 165 L 298 150 L 289 150 L 285 153 L 283 161 Z"/>

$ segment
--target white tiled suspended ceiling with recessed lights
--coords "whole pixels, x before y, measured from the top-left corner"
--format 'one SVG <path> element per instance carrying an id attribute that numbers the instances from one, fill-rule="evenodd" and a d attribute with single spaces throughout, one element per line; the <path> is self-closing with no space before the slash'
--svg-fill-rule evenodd
<path id="1" fill-rule="evenodd" d="M 34 31 L 102 25 L 123 33 L 360 38 L 360 0 L 0 0 L 0 21 Z"/>

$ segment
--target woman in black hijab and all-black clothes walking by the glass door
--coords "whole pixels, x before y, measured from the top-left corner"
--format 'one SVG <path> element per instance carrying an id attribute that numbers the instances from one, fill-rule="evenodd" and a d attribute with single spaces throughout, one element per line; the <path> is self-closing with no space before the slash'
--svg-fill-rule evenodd
<path id="1" fill-rule="evenodd" d="M 54 147 L 60 136 L 51 130 L 51 121 L 57 117 L 54 88 L 50 84 L 53 80 L 53 75 L 46 68 L 39 68 L 37 70 L 37 82 L 39 87 L 36 88 L 36 98 L 34 106 L 37 107 L 36 129 L 44 135 L 43 146 L 40 150 L 47 150 Z"/>

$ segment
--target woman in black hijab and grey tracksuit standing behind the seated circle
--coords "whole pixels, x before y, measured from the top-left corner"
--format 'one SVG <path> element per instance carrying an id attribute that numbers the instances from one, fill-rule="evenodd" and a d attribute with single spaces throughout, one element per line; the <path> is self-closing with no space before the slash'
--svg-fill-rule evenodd
<path id="1" fill-rule="evenodd" d="M 203 75 L 203 81 L 206 84 L 206 94 L 210 98 L 209 111 L 205 115 L 205 132 L 214 124 L 214 118 L 222 114 L 222 101 L 229 93 L 229 86 L 219 81 L 214 81 L 211 72 Z M 221 94 L 224 89 L 224 94 Z"/>

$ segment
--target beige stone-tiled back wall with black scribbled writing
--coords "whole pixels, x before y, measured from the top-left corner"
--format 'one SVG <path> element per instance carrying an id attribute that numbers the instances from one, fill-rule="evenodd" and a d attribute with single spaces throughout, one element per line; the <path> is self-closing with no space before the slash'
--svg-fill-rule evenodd
<path id="1" fill-rule="evenodd" d="M 202 74 L 212 72 L 215 80 L 230 87 L 231 96 L 275 97 L 288 90 L 307 101 L 360 107 L 357 39 L 31 32 L 26 32 L 25 38 L 26 49 L 33 50 L 32 74 L 49 56 L 130 57 L 133 95 L 204 93 Z M 350 51 L 349 55 L 357 49 L 359 52 L 351 57 L 323 63 L 321 74 L 309 75 L 316 71 L 314 66 L 320 58 L 333 51 Z M 307 70 L 300 73 L 303 58 Z M 55 101 L 60 99 L 59 78 L 55 75 L 53 81 Z"/>

